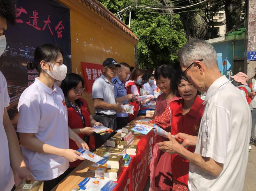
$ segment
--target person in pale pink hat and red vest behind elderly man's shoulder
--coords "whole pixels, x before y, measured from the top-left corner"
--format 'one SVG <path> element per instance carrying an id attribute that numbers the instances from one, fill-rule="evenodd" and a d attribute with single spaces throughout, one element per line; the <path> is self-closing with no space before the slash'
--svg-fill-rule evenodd
<path id="1" fill-rule="evenodd" d="M 248 87 L 246 83 L 248 76 L 242 72 L 238 72 L 237 74 L 235 74 L 235 76 L 231 77 L 234 79 L 232 83 L 243 92 L 248 104 L 250 104 L 249 95 L 251 93 L 251 89 Z"/>

